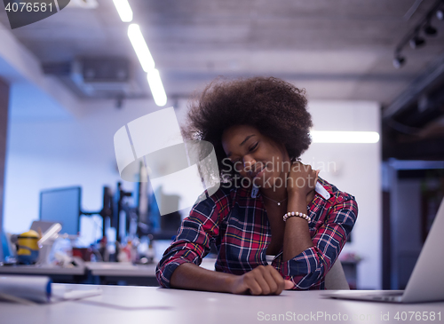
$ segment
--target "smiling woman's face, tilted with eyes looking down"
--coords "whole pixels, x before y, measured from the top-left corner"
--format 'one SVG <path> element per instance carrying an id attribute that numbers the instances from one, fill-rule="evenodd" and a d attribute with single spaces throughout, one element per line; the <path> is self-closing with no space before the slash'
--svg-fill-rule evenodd
<path id="1" fill-rule="evenodd" d="M 256 186 L 266 189 L 285 186 L 285 173 L 290 164 L 282 144 L 252 126 L 237 125 L 224 131 L 222 146 L 234 170 L 243 178 L 250 178 Z"/>

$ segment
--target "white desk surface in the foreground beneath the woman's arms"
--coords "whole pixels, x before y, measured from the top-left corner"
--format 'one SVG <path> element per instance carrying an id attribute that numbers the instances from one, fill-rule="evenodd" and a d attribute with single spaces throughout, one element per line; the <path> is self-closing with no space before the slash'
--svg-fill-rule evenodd
<path id="1" fill-rule="evenodd" d="M 90 289 L 98 286 L 61 285 Z M 429 304 L 382 304 L 324 298 L 325 291 L 284 291 L 281 296 L 236 296 L 154 287 L 100 286 L 101 296 L 83 300 L 26 306 L 0 303 L 1 323 L 63 324 L 82 323 L 242 323 L 272 322 L 273 319 L 299 323 L 441 323 L 444 302 Z M 361 293 L 362 291 L 357 291 Z M 395 320 L 396 313 L 407 320 Z M 435 312 L 435 320 L 410 320 L 410 313 Z M 440 313 L 440 320 L 438 318 Z M 381 320 L 388 314 L 389 320 Z M 348 320 L 345 320 L 345 315 Z M 281 317 L 279 317 L 281 316 Z M 299 320 L 297 317 L 299 316 Z M 302 317 L 301 317 L 302 316 Z M 330 316 L 330 319 L 328 318 Z M 337 320 L 334 320 L 336 316 Z M 304 319 L 305 317 L 305 319 Z M 327 317 L 327 319 L 326 319 Z M 354 317 L 354 320 L 353 320 Z M 361 317 L 361 320 L 360 320 Z M 364 318 L 368 320 L 363 320 Z M 295 320 L 296 319 L 296 320 Z"/>

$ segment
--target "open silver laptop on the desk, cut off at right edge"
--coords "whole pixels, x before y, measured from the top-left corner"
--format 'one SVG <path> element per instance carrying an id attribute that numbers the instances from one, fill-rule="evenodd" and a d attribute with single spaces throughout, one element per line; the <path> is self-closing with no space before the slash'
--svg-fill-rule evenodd
<path id="1" fill-rule="evenodd" d="M 353 293 L 337 291 L 323 294 L 337 299 L 388 303 L 422 303 L 444 300 L 444 199 L 427 235 L 405 290 Z"/>

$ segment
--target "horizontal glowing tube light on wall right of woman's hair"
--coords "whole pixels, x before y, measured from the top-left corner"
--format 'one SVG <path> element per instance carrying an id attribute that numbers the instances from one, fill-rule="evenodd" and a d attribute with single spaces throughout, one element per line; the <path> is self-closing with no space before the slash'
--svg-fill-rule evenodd
<path id="1" fill-rule="evenodd" d="M 377 143 L 377 131 L 326 131 L 313 130 L 310 132 L 313 143 Z"/>

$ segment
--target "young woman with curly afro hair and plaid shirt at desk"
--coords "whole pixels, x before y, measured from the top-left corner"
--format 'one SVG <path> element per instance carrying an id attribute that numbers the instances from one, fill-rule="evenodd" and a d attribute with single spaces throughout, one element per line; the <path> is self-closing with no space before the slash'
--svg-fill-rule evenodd
<path id="1" fill-rule="evenodd" d="M 187 117 L 186 138 L 215 147 L 222 183 L 163 254 L 161 286 L 252 295 L 324 288 L 358 207 L 298 161 L 311 143 L 304 92 L 273 77 L 215 82 Z M 215 272 L 198 266 L 211 241 Z"/>

